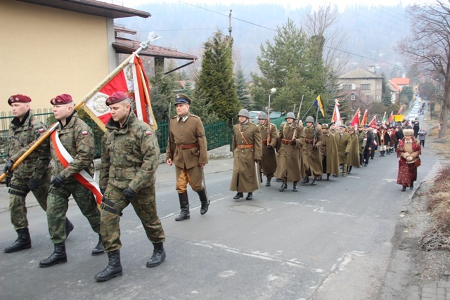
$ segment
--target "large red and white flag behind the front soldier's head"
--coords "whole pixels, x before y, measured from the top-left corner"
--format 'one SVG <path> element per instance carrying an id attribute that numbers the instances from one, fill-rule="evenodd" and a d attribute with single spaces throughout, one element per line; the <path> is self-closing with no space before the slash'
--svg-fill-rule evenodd
<path id="1" fill-rule="evenodd" d="M 116 91 L 128 94 L 133 105 L 133 111 L 143 122 L 153 129 L 158 129 L 150 104 L 150 88 L 142 60 L 136 54 L 120 72 L 110 79 L 97 93 L 84 105 L 89 108 L 86 112 L 96 121 L 98 126 L 105 128 L 111 117 L 110 109 L 105 104 L 106 99 Z"/>

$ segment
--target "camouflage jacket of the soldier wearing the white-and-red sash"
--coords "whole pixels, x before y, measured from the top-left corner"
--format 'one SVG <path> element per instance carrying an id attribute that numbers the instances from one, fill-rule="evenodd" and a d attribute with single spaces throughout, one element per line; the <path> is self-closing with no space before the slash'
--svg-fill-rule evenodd
<path id="1" fill-rule="evenodd" d="M 59 124 L 56 132 L 65 150 L 72 156 L 73 161 L 70 162 L 67 168 L 64 168 L 56 155 L 55 146 L 52 142 L 51 158 L 55 162 L 53 176 L 61 174 L 66 181 L 76 181 L 77 179 L 72 175 L 82 170 L 86 170 L 86 172 L 93 176 L 94 134 L 92 134 L 91 128 L 82 119 L 79 119 L 77 112 L 70 115 L 66 119 L 66 122 L 65 126 Z"/>

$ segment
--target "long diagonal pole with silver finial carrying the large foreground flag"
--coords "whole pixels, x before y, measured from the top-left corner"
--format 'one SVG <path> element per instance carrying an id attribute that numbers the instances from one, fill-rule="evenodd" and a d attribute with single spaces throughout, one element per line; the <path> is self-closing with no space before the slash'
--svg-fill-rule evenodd
<path id="1" fill-rule="evenodd" d="M 107 77 L 105 77 L 105 79 L 103 79 L 99 84 L 97 84 L 97 86 L 94 89 L 92 89 L 92 91 L 90 91 L 86 96 L 84 96 L 84 98 L 79 103 L 77 103 L 77 105 L 75 105 L 74 110 L 77 110 L 84 103 L 86 103 L 87 100 L 92 98 L 92 96 L 94 96 L 95 93 L 97 93 L 105 84 L 107 84 L 108 81 L 110 81 L 110 79 L 115 77 L 117 73 L 119 73 L 124 69 L 124 67 L 130 62 L 131 58 L 134 55 L 138 55 L 143 50 L 146 50 L 146 48 L 148 48 L 148 44 L 151 41 L 155 41 L 156 39 L 160 39 L 160 37 L 155 35 L 154 32 L 150 32 L 150 34 L 148 34 L 148 39 L 146 41 L 143 41 L 141 45 L 139 45 L 139 48 L 136 51 L 134 51 L 133 54 L 131 54 L 131 56 L 129 56 L 126 60 L 124 60 L 118 67 L 115 68 L 113 72 L 111 72 Z M 32 143 L 25 146 L 26 148 L 28 148 L 27 151 L 14 162 L 13 167 L 11 167 L 11 171 L 17 168 L 18 165 L 28 157 L 28 155 L 30 155 L 34 150 L 36 150 L 37 147 L 39 147 L 39 145 L 41 145 L 43 141 L 45 141 L 46 138 L 49 138 L 51 133 L 55 131 L 56 128 L 58 128 L 58 126 L 59 122 L 56 122 L 55 124 L 51 125 L 50 128 L 47 129 L 47 131 L 44 134 L 42 134 L 42 136 L 40 136 L 36 141 L 32 141 Z M 5 177 L 6 174 L 1 174 L 0 181 L 3 181 Z"/>

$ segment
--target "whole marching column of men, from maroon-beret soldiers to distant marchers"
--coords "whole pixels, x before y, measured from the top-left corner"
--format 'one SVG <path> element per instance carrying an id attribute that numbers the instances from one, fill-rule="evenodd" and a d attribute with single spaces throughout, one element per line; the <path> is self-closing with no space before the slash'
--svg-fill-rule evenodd
<path id="1" fill-rule="evenodd" d="M 8 160 L 4 173 L 7 175 L 6 185 L 10 188 L 11 223 L 18 238 L 4 252 L 18 252 L 31 247 L 25 206 L 25 197 L 31 191 L 46 211 L 54 245 L 53 253 L 39 262 L 40 267 L 68 261 L 65 240 L 74 228 L 65 216 L 70 196 L 98 235 L 91 254 L 108 254 L 108 265 L 95 275 L 98 282 L 122 275 L 120 217 L 129 204 L 153 244 L 153 254 L 146 267 L 159 266 L 166 258 L 163 247 L 165 233 L 155 200 L 155 171 L 160 148 L 155 131 L 134 114 L 127 93 L 115 92 L 105 102 L 111 117 L 103 136 L 99 187 L 89 185 L 89 182 L 95 182 L 92 178 L 94 135 L 79 119 L 72 96 L 68 94 L 51 99 L 53 115 L 58 121 L 51 139 L 41 143 L 13 169 L 14 162 L 30 148 L 32 141 L 46 131 L 44 124 L 32 114 L 30 102 L 31 98 L 19 94 L 8 99 L 14 118 L 8 131 Z M 169 122 L 166 162 L 176 168 L 176 191 L 181 208 L 176 221 L 190 219 L 188 184 L 199 195 L 200 214 L 206 214 L 210 205 L 203 175 L 208 162 L 205 129 L 200 117 L 189 112 L 190 105 L 191 98 L 176 95 L 176 116 Z M 311 185 L 321 181 L 323 173 L 328 181 L 330 175 L 339 175 L 340 166 L 342 176 L 346 176 L 351 174 L 352 167 L 368 166 L 376 145 L 380 146 L 380 156 L 383 157 L 387 150 L 392 151 L 396 147 L 398 141 L 398 131 L 385 131 L 384 126 L 380 126 L 378 133 L 372 133 L 367 125 L 357 128 L 337 127 L 336 124 L 328 126 L 316 124 L 311 116 L 305 119 L 306 126 L 303 126 L 302 120 L 296 119 L 293 112 L 288 112 L 279 131 L 268 122 L 265 112 L 259 113 L 258 125 L 250 122 L 250 113 L 245 109 L 240 110 L 238 119 L 239 123 L 233 126 L 230 184 L 230 190 L 237 192 L 234 200 L 243 198 L 244 193 L 247 193 L 246 200 L 252 200 L 253 192 L 260 188 L 262 175 L 266 176 L 266 187 L 271 186 L 272 178 L 280 179 L 280 192 L 288 188 L 288 182 L 293 183 L 293 191 L 297 192 L 297 183 L 309 183 L 309 176 Z M 51 159 L 54 161 L 52 174 Z M 96 197 L 98 202 L 102 199 L 99 207 L 96 206 Z"/>

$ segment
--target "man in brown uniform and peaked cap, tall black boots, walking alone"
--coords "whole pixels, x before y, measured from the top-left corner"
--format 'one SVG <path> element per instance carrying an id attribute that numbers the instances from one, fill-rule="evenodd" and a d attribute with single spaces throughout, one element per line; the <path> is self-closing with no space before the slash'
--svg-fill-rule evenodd
<path id="1" fill-rule="evenodd" d="M 175 164 L 176 190 L 181 207 L 175 221 L 189 219 L 189 200 L 187 185 L 191 185 L 200 197 L 200 214 L 206 214 L 210 200 L 202 185 L 203 168 L 208 163 L 205 129 L 200 117 L 191 115 L 191 99 L 183 94 L 175 96 L 176 116 L 169 122 L 169 141 L 167 141 L 166 162 Z"/>

